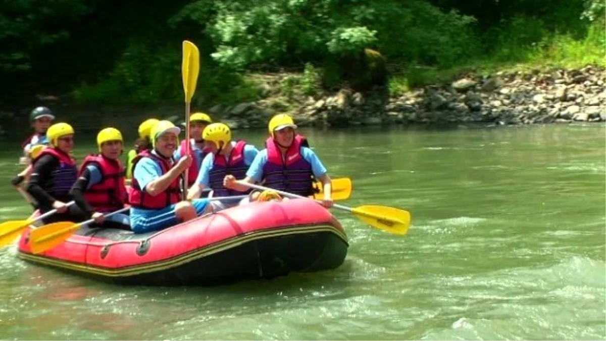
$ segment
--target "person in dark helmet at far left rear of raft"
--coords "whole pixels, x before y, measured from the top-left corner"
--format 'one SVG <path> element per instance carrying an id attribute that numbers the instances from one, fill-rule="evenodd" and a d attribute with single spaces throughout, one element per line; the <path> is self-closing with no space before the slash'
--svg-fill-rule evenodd
<path id="1" fill-rule="evenodd" d="M 32 160 L 38 156 L 41 146 L 48 144 L 46 131 L 53 120 L 55 120 L 55 115 L 47 107 L 37 107 L 30 112 L 30 122 L 34 133 L 21 144 L 23 156 L 19 158 L 19 163 L 27 164 L 27 167 L 10 181 L 13 186 L 19 186 L 32 175 Z"/>

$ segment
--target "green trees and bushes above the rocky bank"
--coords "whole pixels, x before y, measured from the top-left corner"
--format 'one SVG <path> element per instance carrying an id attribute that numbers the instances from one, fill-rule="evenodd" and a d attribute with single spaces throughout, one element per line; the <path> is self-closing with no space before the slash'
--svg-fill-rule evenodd
<path id="1" fill-rule="evenodd" d="M 61 83 L 83 103 L 182 101 L 181 41 L 190 39 L 202 53 L 198 105 L 255 100 L 246 75 L 266 70 L 303 70 L 279 85 L 292 96 L 365 90 L 384 84 L 392 66 L 388 86 L 401 92 L 470 67 L 604 64 L 605 8 L 606 0 L 4 1 L 0 76 L 19 91 Z M 49 70 L 68 75 L 39 81 Z"/>

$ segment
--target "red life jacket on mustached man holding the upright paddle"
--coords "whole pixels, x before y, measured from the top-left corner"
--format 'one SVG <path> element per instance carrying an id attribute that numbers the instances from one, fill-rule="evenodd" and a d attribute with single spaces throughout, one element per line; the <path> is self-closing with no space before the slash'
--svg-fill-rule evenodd
<path id="1" fill-rule="evenodd" d="M 155 153 L 144 150 L 133 160 L 133 174 L 135 173 L 137 163 L 144 157 L 151 158 L 151 160 L 156 161 L 156 163 L 160 165 L 162 175 L 166 174 L 168 170 L 173 167 L 173 165 L 171 165 L 167 159 L 161 158 Z M 164 190 L 164 192 L 153 197 L 141 189 L 141 186 L 139 186 L 139 183 L 133 176 L 133 180 L 131 182 L 133 189 L 128 195 L 128 202 L 133 208 L 141 209 L 163 209 L 171 204 L 176 204 L 181 201 L 181 187 L 179 186 L 179 180 L 181 180 L 181 177 L 177 177 L 168 186 L 168 188 Z"/>

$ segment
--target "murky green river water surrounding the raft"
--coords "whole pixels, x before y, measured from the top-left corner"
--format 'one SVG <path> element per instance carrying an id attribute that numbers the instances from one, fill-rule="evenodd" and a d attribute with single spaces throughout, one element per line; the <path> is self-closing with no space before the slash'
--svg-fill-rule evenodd
<path id="1" fill-rule="evenodd" d="M 0 340 L 606 339 L 606 126 L 302 131 L 353 179 L 343 204 L 407 209 L 408 234 L 335 211 L 340 268 L 210 288 L 94 282 L 13 245 Z M 30 213 L 9 183 L 16 149 L 1 148 L 0 221 Z"/>

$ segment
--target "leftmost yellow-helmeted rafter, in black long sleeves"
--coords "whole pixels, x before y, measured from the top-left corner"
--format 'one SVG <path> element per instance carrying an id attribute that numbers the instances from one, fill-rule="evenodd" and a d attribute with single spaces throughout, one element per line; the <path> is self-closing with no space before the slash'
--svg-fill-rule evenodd
<path id="1" fill-rule="evenodd" d="M 44 218 L 44 223 L 55 221 L 82 221 L 84 212 L 71 200 L 70 188 L 76 182 L 76 160 L 70 155 L 74 146 L 74 129 L 67 123 L 53 124 L 46 133 L 48 147 L 33 160 L 32 177 L 27 192 L 38 202 L 42 213 L 56 209 L 57 213 Z"/>

